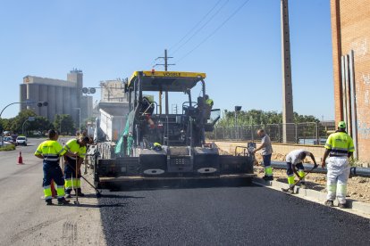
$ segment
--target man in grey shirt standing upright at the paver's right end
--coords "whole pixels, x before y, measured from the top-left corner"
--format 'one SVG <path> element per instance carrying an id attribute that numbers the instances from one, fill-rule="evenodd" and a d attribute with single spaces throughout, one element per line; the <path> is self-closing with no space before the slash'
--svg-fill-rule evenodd
<path id="1" fill-rule="evenodd" d="M 273 154 L 273 146 L 271 145 L 270 136 L 265 134 L 264 129 L 259 129 L 257 135 L 261 137 L 261 145 L 253 151 L 253 153 L 262 150 L 262 158 L 265 166 L 265 181 L 273 180 L 273 168 L 271 168 L 271 155 Z"/>

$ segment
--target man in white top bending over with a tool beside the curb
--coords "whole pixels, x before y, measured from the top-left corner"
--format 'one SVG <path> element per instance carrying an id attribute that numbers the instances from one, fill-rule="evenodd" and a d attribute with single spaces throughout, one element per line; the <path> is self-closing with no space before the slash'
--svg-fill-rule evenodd
<path id="1" fill-rule="evenodd" d="M 300 187 L 305 188 L 305 168 L 303 167 L 303 160 L 306 159 L 306 157 L 309 156 L 314 161 L 315 167 L 317 167 L 315 156 L 311 152 L 307 152 L 305 150 L 295 150 L 290 152 L 285 160 L 287 162 L 287 175 L 288 175 L 288 184 L 292 186 L 291 184 L 294 184 L 294 174 L 301 179 Z M 297 170 L 298 169 L 298 170 Z M 289 188 L 288 193 L 294 193 L 294 190 L 292 187 Z"/>

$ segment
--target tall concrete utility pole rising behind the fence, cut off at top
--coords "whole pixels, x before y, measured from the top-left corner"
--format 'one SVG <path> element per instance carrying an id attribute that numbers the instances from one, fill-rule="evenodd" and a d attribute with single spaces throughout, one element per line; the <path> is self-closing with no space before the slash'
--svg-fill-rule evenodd
<path id="1" fill-rule="evenodd" d="M 282 11 L 282 142 L 294 141 L 293 94 L 290 67 L 288 0 L 281 0 Z"/>

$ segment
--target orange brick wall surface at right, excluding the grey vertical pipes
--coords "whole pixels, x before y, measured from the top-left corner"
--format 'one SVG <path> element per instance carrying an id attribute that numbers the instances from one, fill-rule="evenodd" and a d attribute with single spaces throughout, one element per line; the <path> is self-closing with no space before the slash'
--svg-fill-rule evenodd
<path id="1" fill-rule="evenodd" d="M 341 55 L 354 51 L 358 159 L 370 160 L 370 1 L 331 0 L 335 120 L 341 114 Z"/>

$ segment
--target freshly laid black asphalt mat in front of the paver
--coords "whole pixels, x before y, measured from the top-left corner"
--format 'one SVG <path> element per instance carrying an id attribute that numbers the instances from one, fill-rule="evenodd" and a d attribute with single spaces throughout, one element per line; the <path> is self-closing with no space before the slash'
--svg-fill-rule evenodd
<path id="1" fill-rule="evenodd" d="M 108 245 L 370 245 L 370 220 L 256 185 L 104 191 Z"/>

